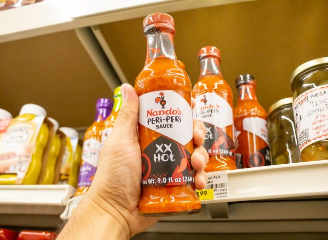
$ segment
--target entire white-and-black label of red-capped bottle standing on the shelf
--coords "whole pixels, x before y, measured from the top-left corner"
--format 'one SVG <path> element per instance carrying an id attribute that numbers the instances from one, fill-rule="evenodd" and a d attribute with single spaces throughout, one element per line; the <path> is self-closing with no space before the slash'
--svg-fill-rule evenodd
<path id="1" fill-rule="evenodd" d="M 215 93 L 202 94 L 195 98 L 193 118 L 200 120 L 206 127 L 203 147 L 209 155 L 234 156 L 233 136 L 224 129 L 233 125 L 233 111 L 230 104 Z"/>

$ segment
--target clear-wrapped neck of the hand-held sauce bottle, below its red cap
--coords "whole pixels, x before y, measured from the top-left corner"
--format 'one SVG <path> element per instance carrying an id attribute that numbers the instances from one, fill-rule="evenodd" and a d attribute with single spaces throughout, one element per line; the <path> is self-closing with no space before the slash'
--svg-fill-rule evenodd
<path id="1" fill-rule="evenodd" d="M 156 32 L 147 34 L 146 62 L 156 57 L 176 59 L 173 34 L 168 32 Z"/>

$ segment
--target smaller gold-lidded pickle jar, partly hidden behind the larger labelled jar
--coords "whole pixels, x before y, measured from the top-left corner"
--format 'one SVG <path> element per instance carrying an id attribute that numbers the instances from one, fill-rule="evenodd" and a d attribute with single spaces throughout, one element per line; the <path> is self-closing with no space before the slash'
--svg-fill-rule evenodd
<path id="1" fill-rule="evenodd" d="M 294 123 L 293 98 L 284 98 L 269 108 L 269 140 L 272 164 L 300 162 Z"/>

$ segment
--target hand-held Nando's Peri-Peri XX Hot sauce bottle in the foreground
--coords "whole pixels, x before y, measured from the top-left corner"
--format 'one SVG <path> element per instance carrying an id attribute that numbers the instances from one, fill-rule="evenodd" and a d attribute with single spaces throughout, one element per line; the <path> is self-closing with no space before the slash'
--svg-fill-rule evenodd
<path id="1" fill-rule="evenodd" d="M 147 57 L 135 82 L 142 152 L 139 212 L 147 216 L 197 213 L 200 201 L 191 166 L 191 81 L 175 56 L 173 18 L 166 13 L 147 16 L 144 34 Z"/>

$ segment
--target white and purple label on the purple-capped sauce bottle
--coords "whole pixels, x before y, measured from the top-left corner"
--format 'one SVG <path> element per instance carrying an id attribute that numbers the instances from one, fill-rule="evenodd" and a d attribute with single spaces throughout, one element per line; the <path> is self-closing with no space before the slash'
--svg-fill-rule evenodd
<path id="1" fill-rule="evenodd" d="M 100 156 L 100 142 L 90 138 L 84 141 L 82 149 L 83 163 L 78 174 L 77 186 L 90 186 L 97 170 Z"/>

